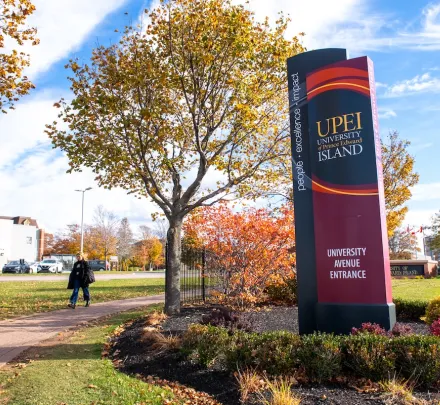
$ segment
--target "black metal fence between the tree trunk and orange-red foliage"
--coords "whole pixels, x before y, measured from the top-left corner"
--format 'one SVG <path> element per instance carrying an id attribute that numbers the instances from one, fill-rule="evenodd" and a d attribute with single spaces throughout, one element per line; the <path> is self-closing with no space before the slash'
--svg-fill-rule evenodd
<path id="1" fill-rule="evenodd" d="M 181 303 L 209 302 L 215 292 L 222 291 L 222 277 L 212 266 L 213 255 L 202 249 L 182 247 L 180 268 Z M 165 267 L 168 269 L 168 249 L 165 247 Z"/>

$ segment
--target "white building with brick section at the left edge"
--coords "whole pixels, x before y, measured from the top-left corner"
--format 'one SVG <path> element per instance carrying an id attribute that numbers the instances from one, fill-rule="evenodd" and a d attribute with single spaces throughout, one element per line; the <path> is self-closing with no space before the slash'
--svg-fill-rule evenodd
<path id="1" fill-rule="evenodd" d="M 44 230 L 29 217 L 0 216 L 0 268 L 10 260 L 40 260 L 44 251 Z"/>

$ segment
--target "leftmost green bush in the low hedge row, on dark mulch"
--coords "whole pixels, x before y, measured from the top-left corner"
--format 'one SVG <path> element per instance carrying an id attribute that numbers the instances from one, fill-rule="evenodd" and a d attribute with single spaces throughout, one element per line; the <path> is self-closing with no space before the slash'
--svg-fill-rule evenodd
<path id="1" fill-rule="evenodd" d="M 208 367 L 230 343 L 228 331 L 210 325 L 191 325 L 182 338 L 182 350 L 189 354 L 196 352 L 199 362 Z"/>

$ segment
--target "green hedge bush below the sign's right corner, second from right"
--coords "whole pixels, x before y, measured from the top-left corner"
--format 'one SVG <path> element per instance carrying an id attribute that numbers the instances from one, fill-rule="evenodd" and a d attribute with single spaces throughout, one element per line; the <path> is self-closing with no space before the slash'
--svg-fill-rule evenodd
<path id="1" fill-rule="evenodd" d="M 372 333 L 347 336 L 343 342 L 344 366 L 358 377 L 373 381 L 388 379 L 395 362 L 390 340 Z"/>

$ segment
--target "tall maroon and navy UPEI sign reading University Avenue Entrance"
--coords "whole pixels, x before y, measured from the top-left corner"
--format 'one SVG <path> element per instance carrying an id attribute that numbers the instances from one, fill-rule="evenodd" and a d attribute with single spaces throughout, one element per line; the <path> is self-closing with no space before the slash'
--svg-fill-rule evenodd
<path id="1" fill-rule="evenodd" d="M 373 64 L 322 49 L 287 66 L 300 333 L 391 328 Z"/>

